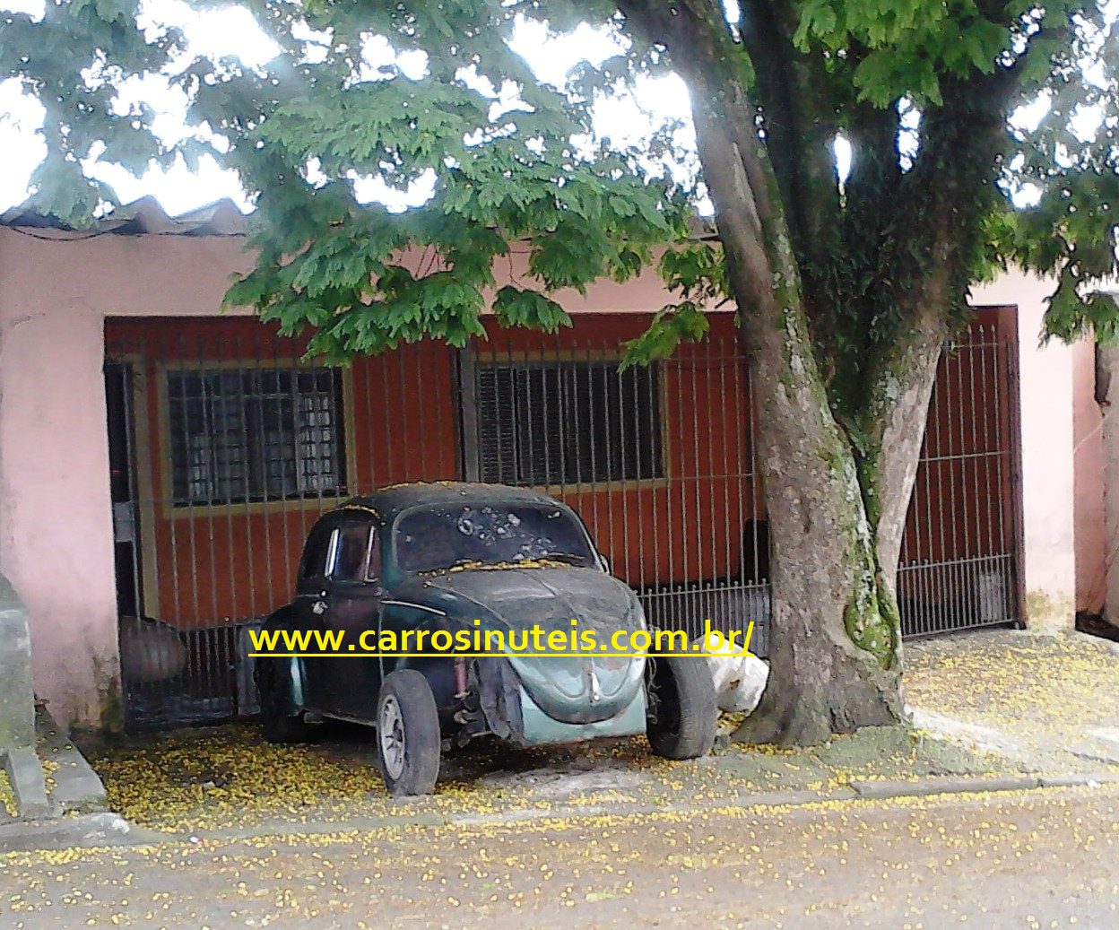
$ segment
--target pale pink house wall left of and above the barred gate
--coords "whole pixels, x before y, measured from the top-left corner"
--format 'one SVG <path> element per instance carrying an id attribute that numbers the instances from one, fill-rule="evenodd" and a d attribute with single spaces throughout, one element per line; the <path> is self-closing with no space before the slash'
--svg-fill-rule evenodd
<path id="1" fill-rule="evenodd" d="M 246 257 L 239 237 L 41 235 L 0 228 L 0 572 L 30 610 L 39 696 L 96 724 L 117 676 L 104 320 L 213 316 Z M 560 299 L 648 312 L 669 295 L 647 271 Z"/>

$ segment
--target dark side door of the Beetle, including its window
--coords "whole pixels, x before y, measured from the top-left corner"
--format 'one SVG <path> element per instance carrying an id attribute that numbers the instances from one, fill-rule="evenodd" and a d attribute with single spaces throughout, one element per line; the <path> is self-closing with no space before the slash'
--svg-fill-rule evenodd
<path id="1" fill-rule="evenodd" d="M 350 517 L 337 526 L 338 541 L 330 570 L 327 629 L 341 638 L 342 656 L 335 660 L 332 706 L 337 713 L 374 721 L 380 688 L 380 663 L 361 648 L 361 633 L 373 631 L 368 645 L 376 646 L 376 631 L 384 590 L 380 584 L 380 535 L 365 516 Z"/>

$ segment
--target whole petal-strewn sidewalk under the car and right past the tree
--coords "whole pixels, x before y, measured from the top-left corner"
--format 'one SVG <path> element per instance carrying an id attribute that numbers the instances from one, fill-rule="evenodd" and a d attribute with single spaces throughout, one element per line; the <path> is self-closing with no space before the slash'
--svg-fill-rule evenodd
<path id="1" fill-rule="evenodd" d="M 446 761 L 434 796 L 406 800 L 386 796 L 359 727 L 325 726 L 305 746 L 270 745 L 253 724 L 185 730 L 91 758 L 109 807 L 132 825 L 110 833 L 115 842 L 1098 785 L 1119 779 L 1111 647 L 1017 631 L 930 640 L 908 650 L 910 730 L 797 750 L 722 741 L 692 762 L 651 757 L 643 740 L 551 751 L 478 743 Z"/>

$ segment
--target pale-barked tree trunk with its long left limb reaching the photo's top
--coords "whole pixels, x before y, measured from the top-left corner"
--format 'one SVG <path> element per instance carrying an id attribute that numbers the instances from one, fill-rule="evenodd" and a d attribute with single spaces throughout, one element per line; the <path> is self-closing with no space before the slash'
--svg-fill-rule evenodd
<path id="1" fill-rule="evenodd" d="M 930 264 L 932 275 L 906 295 L 909 331 L 863 366 L 862 393 L 847 405 L 857 411 L 847 424 L 853 438 L 828 397 L 781 192 L 756 109 L 731 64 L 736 53 L 726 46 L 722 8 L 708 0 L 620 7 L 668 47 L 688 83 L 750 358 L 773 546 L 771 670 L 761 704 L 735 736 L 814 743 L 897 723 L 895 575 L 944 335 L 950 263 Z"/>

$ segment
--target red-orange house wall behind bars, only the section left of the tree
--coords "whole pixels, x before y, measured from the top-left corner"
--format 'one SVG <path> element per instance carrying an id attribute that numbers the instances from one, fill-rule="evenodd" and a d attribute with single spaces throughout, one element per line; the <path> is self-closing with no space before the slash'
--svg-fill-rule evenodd
<path id="1" fill-rule="evenodd" d="M 580 314 L 556 336 L 493 327 L 476 350 L 514 358 L 617 356 L 648 321 L 646 314 Z M 133 359 L 140 387 L 138 463 L 151 479 L 141 519 L 147 515 L 151 524 L 143 530 L 145 557 L 157 586 L 147 598 L 149 613 L 180 627 L 211 626 L 266 614 L 291 596 L 303 537 L 335 499 L 172 507 L 160 382 L 167 367 L 203 360 L 267 367 L 303 349 L 303 341 L 250 319 L 106 323 L 106 355 Z M 758 509 L 731 314 L 714 317 L 712 337 L 683 347 L 662 370 L 665 477 L 555 491 L 586 520 L 615 573 L 638 586 L 737 574 L 743 523 Z M 462 477 L 453 350 L 422 344 L 357 359 L 345 383 L 351 492 Z"/>

